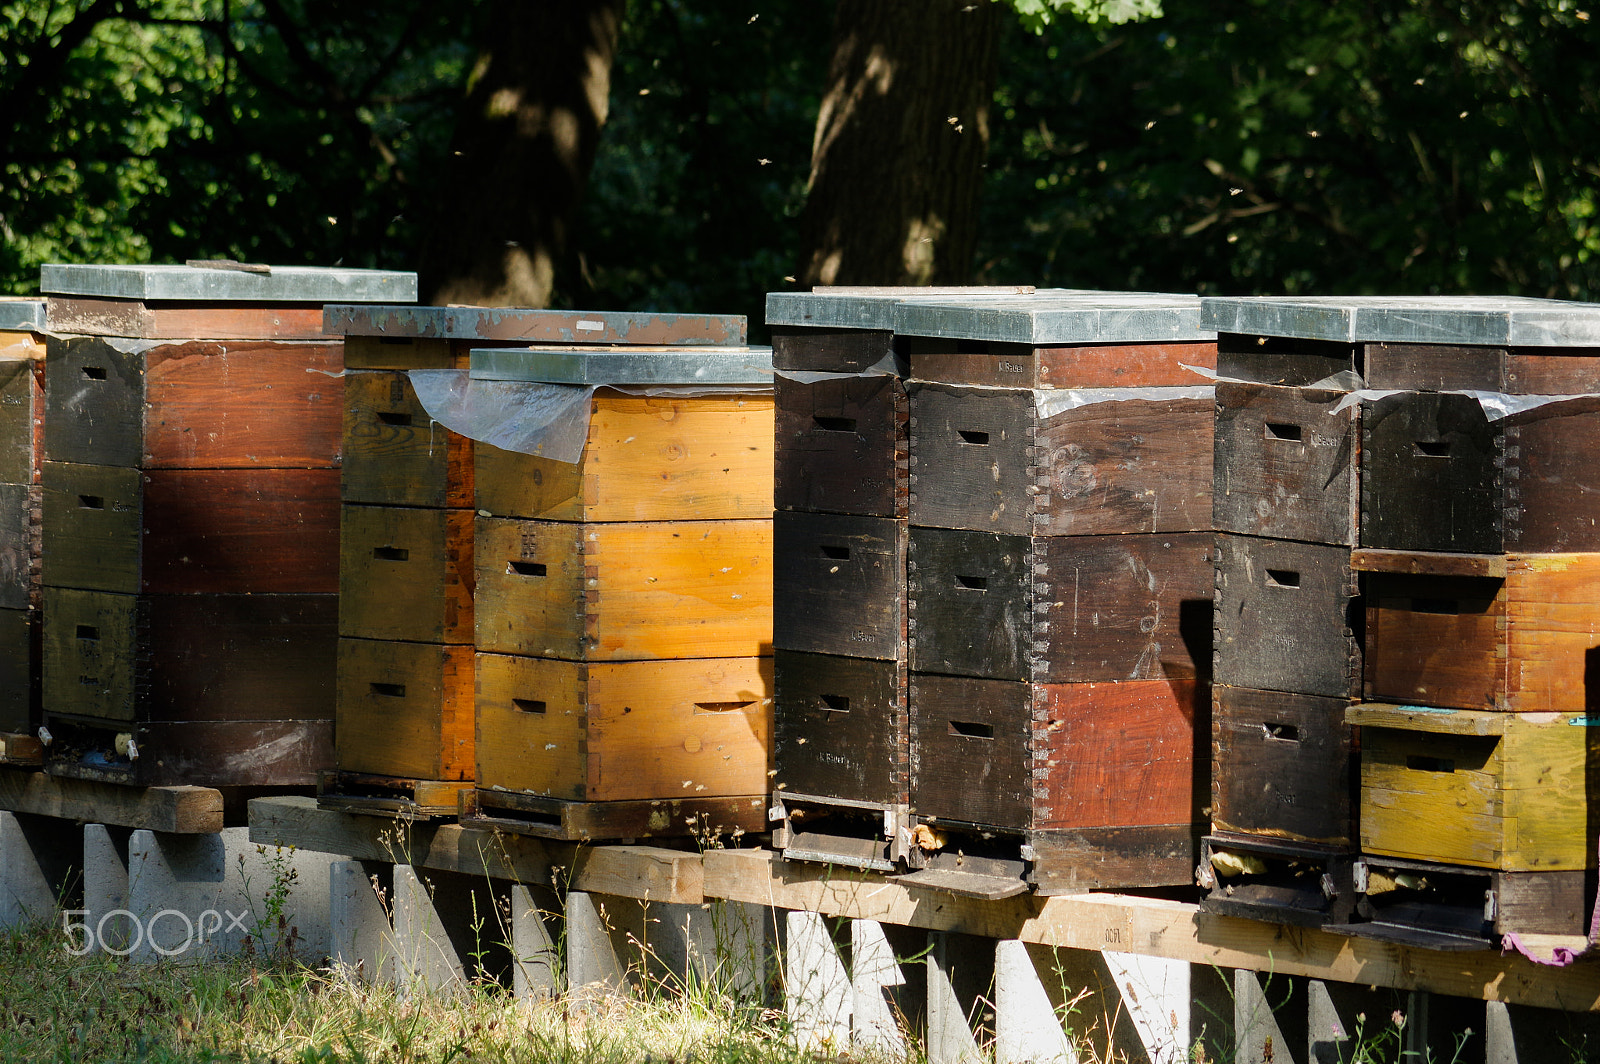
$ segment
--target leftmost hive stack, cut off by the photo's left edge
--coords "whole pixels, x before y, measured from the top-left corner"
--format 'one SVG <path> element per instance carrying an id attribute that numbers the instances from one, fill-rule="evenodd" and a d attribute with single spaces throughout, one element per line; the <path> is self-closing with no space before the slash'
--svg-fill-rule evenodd
<path id="1" fill-rule="evenodd" d="M 38 760 L 45 302 L 0 299 L 0 763 Z"/>

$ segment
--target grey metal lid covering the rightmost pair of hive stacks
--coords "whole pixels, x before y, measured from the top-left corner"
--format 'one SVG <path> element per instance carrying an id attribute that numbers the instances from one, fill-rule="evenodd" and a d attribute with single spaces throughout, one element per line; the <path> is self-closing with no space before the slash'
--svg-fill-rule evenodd
<path id="1" fill-rule="evenodd" d="M 1600 304 L 1525 296 L 1214 296 L 1219 333 L 1344 344 L 1600 346 Z"/>

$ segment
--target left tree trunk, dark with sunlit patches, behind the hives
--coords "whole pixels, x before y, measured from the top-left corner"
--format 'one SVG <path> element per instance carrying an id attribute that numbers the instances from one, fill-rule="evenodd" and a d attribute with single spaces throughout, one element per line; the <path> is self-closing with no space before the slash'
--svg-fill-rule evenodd
<path id="1" fill-rule="evenodd" d="M 549 302 L 605 125 L 622 8 L 494 0 L 419 264 L 432 302 Z"/>

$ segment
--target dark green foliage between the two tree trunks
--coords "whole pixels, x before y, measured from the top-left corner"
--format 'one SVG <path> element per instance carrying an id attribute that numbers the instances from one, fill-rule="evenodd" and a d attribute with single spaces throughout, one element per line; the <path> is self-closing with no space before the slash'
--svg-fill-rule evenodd
<path id="1" fill-rule="evenodd" d="M 811 5 L 630 0 L 563 302 L 760 333 L 794 272 L 830 26 Z"/>

